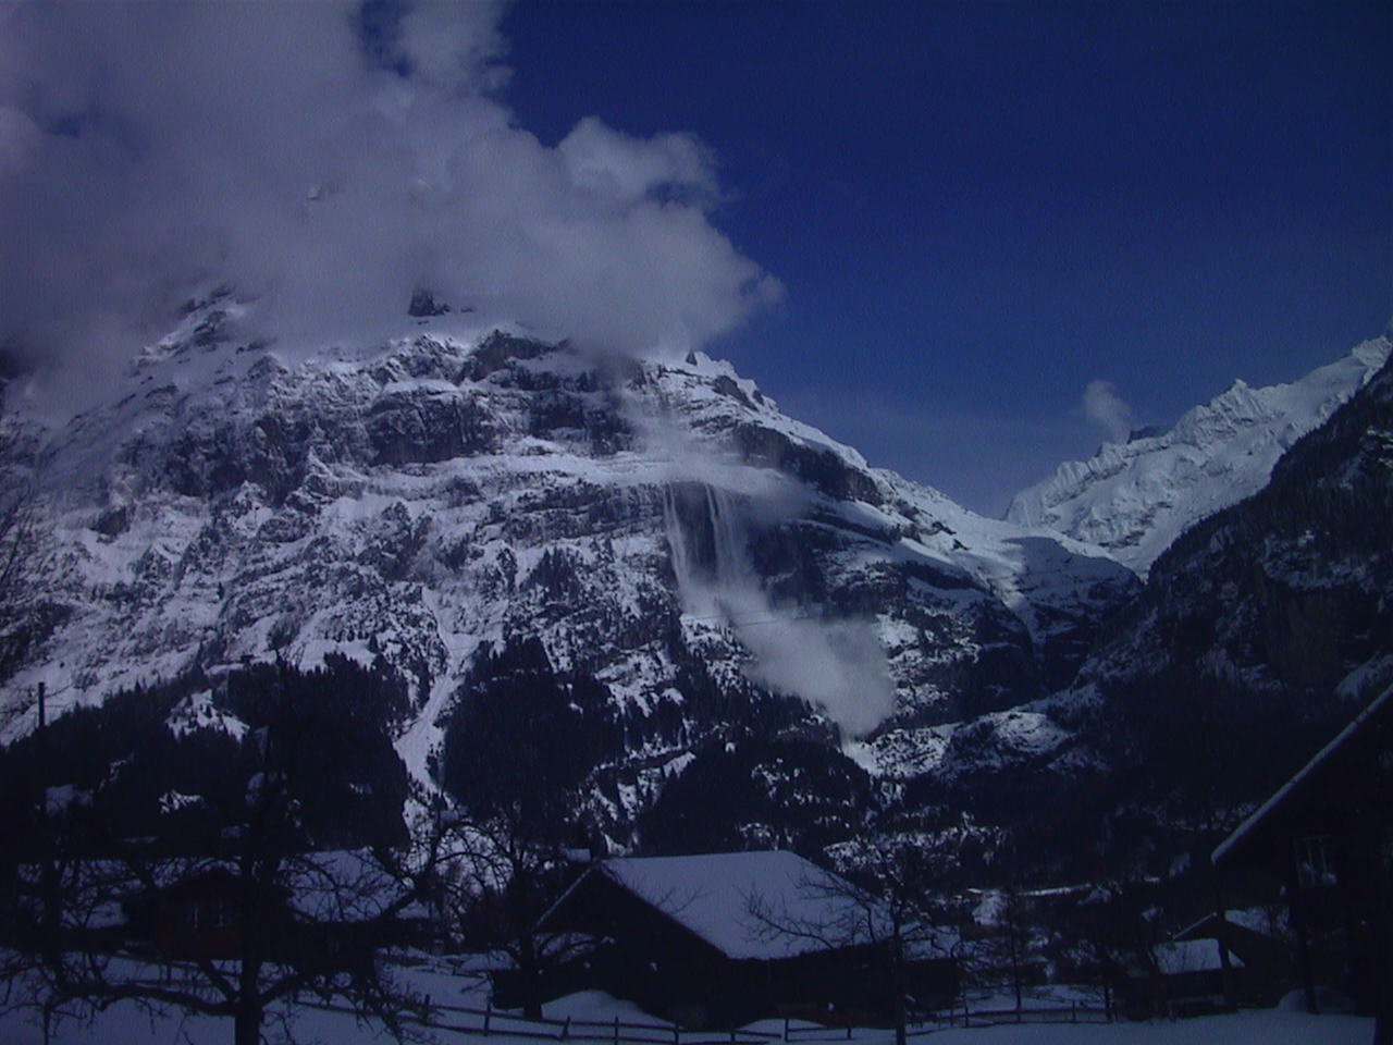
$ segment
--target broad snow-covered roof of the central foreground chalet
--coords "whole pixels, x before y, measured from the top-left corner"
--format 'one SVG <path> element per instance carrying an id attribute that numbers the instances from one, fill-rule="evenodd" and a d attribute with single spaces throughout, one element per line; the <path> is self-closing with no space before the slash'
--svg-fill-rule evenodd
<path id="1" fill-rule="evenodd" d="M 795 853 L 606 860 L 603 874 L 731 959 L 784 959 L 871 943 L 885 911 Z"/>

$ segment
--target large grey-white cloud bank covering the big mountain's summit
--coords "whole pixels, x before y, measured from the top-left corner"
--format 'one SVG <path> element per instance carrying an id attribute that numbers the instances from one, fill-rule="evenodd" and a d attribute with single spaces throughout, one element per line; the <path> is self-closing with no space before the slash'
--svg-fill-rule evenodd
<path id="1" fill-rule="evenodd" d="M 418 287 L 630 353 L 779 295 L 696 138 L 543 145 L 504 52 L 485 3 L 0 8 L 0 344 L 99 373 L 217 281 L 288 350 L 400 333 Z"/>

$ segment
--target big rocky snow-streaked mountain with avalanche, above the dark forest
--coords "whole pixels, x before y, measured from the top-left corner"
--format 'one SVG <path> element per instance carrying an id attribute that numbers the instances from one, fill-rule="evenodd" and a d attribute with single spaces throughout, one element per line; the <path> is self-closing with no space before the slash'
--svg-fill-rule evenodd
<path id="1" fill-rule="evenodd" d="M 1066 684 L 1137 589 L 1096 549 L 869 468 L 701 354 L 439 316 L 291 359 L 238 343 L 240 308 L 199 302 L 47 436 L 11 706 L 344 653 L 410 683 L 396 743 L 425 780 L 481 651 L 539 640 L 624 723 L 588 754 L 624 823 L 761 694 L 859 737 L 875 773 L 933 772 L 953 723 Z"/>

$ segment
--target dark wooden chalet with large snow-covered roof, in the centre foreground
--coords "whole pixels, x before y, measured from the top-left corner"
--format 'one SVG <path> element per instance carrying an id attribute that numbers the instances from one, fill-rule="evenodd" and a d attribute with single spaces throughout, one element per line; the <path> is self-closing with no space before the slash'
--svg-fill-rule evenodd
<path id="1" fill-rule="evenodd" d="M 605 860 L 542 918 L 591 938 L 568 989 L 591 986 L 692 1027 L 769 1016 L 886 1021 L 894 943 L 886 913 L 794 853 Z M 903 966 L 925 1005 L 956 993 L 956 966 Z"/>

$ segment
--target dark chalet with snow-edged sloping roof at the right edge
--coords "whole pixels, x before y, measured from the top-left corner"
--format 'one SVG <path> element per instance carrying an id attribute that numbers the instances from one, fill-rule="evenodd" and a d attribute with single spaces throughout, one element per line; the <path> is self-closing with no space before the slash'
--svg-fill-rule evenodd
<path id="1" fill-rule="evenodd" d="M 1212 854 L 1215 867 L 1282 883 L 1297 982 L 1378 1016 L 1393 1042 L 1393 688 L 1371 702 Z"/>

